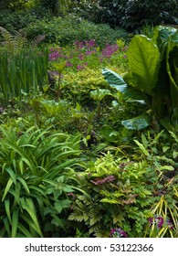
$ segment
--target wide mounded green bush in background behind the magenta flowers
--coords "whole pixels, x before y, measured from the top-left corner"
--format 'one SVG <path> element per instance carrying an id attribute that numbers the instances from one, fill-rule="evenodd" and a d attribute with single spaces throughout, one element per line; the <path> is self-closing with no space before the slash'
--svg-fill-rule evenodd
<path id="1" fill-rule="evenodd" d="M 99 46 L 104 46 L 120 37 L 127 37 L 124 30 L 111 29 L 108 25 L 96 25 L 77 16 L 58 16 L 50 20 L 40 20 L 27 26 L 24 32 L 29 40 L 44 35 L 47 43 L 57 43 L 61 47 L 71 46 L 75 40 L 89 39 L 95 39 Z"/>

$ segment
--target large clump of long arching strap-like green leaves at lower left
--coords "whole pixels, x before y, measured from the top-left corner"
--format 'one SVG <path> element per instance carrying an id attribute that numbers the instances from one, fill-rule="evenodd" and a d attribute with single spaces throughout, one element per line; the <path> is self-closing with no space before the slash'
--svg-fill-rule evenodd
<path id="1" fill-rule="evenodd" d="M 1 128 L 0 237 L 59 237 L 67 231 L 79 141 L 78 134 L 49 129 Z"/>

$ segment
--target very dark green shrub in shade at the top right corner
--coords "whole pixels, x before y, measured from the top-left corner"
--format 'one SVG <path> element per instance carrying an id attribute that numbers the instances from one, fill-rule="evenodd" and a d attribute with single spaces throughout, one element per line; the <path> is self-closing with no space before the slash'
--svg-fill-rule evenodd
<path id="1" fill-rule="evenodd" d="M 178 23 L 176 0 L 99 0 L 98 5 L 93 3 L 91 6 L 90 9 L 87 8 L 88 18 L 92 18 L 95 22 L 108 23 L 112 27 L 120 26 L 133 30 L 145 23 L 153 25 Z M 87 16 L 85 11 L 84 14 Z"/>

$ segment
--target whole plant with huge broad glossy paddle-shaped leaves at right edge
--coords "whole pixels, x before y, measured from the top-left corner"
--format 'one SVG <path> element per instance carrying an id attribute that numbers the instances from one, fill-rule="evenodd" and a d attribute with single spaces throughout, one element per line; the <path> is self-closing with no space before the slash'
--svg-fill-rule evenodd
<path id="1" fill-rule="evenodd" d="M 155 122 L 162 123 L 168 130 L 177 127 L 177 54 L 177 30 L 156 27 L 152 38 L 143 35 L 132 38 L 127 52 L 130 70 L 123 78 L 110 69 L 103 69 L 110 87 L 120 91 L 126 101 L 148 106 L 141 116 L 122 121 L 125 127 L 141 130 Z"/>

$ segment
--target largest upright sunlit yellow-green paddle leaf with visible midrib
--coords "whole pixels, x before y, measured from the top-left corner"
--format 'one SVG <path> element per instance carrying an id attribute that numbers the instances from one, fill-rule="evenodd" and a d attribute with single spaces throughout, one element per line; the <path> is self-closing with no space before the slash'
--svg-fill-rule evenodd
<path id="1" fill-rule="evenodd" d="M 160 63 L 158 47 L 148 37 L 136 35 L 131 40 L 127 55 L 135 87 L 152 96 Z"/>

